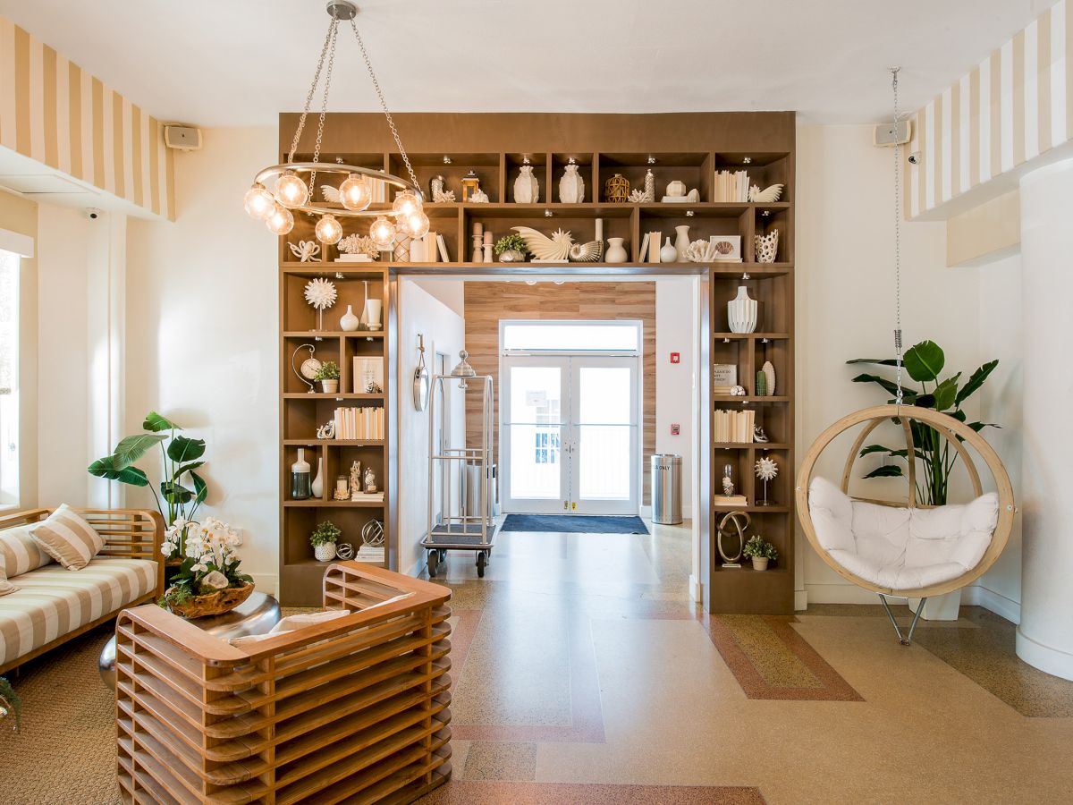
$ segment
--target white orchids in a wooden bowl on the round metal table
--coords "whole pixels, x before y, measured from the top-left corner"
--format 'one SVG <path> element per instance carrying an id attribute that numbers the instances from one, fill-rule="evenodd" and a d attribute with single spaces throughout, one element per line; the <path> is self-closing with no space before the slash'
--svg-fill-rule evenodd
<path id="1" fill-rule="evenodd" d="M 179 571 L 171 579 L 160 605 L 185 618 L 222 615 L 253 592 L 253 580 L 238 570 L 238 529 L 216 517 L 201 523 L 179 517 L 164 531 L 160 552 L 178 557 Z"/>

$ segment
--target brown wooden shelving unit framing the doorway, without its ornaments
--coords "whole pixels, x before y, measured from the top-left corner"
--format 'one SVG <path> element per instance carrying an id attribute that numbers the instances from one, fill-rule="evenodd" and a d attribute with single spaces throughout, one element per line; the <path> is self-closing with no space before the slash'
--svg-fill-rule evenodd
<path id="1" fill-rule="evenodd" d="M 290 145 L 297 123 L 297 115 L 288 113 L 280 116 L 280 150 Z M 710 444 L 707 460 L 702 459 L 701 478 L 702 512 L 699 521 L 702 531 L 702 553 L 707 570 L 704 581 L 705 605 L 712 612 L 765 612 L 790 613 L 793 610 L 793 542 L 794 511 L 791 494 L 794 475 L 793 466 L 793 357 L 794 357 L 794 148 L 795 116 L 793 113 L 686 113 L 659 115 L 561 115 L 561 114 L 400 114 L 396 122 L 409 149 L 418 184 L 426 196 L 430 197 L 429 185 L 433 177 L 443 176 L 445 187 L 460 196 L 460 180 L 470 171 L 481 179 L 481 189 L 488 194 L 487 204 L 469 203 L 426 203 L 425 209 L 431 220 L 431 231 L 443 236 L 450 260 L 443 262 L 405 262 L 354 264 L 335 262 L 338 258 L 335 247 L 322 249 L 320 262 L 297 263 L 289 244 L 313 238 L 313 220 L 298 216 L 294 230 L 280 238 L 279 264 L 282 272 L 281 286 L 281 338 L 284 360 L 290 358 L 290 350 L 299 340 L 308 338 L 312 326 L 312 312 L 305 308 L 300 298 L 300 287 L 311 276 L 341 274 L 351 278 L 377 276 L 382 281 L 384 298 L 385 330 L 373 334 L 380 339 L 377 347 L 385 358 L 386 394 L 381 404 L 385 409 L 397 405 L 398 391 L 392 379 L 396 362 L 388 360 L 388 342 L 394 323 L 387 304 L 389 289 L 394 287 L 394 276 L 406 274 L 466 274 L 472 276 L 502 274 L 503 264 L 472 261 L 470 233 L 474 223 L 482 223 L 494 238 L 510 234 L 512 226 L 527 225 L 541 232 L 550 233 L 557 229 L 569 230 L 575 241 L 594 239 L 594 220 L 603 221 L 604 238 L 621 237 L 626 241 L 629 262 L 533 264 L 513 266 L 512 270 L 547 273 L 556 275 L 675 275 L 702 273 L 706 283 L 707 312 L 703 326 L 707 331 L 702 349 L 702 365 L 727 363 L 730 356 L 738 364 L 739 378 L 752 391 L 752 376 L 765 360 L 771 360 L 778 376 L 778 395 L 758 398 L 748 396 L 734 399 L 715 399 L 710 393 L 710 375 L 705 378 L 706 393 L 702 399 L 709 415 L 702 422 L 702 439 L 712 433 L 712 416 L 717 407 L 751 406 L 759 412 L 759 421 L 767 430 L 770 443 L 756 444 Z M 298 146 L 296 159 L 311 157 L 313 132 L 307 128 Z M 402 159 L 383 126 L 383 120 L 372 114 L 332 114 L 324 126 L 321 159 L 336 160 L 374 170 L 405 175 Z M 528 159 L 534 166 L 534 175 L 540 182 L 540 201 L 536 204 L 514 203 L 514 180 L 519 167 Z M 564 166 L 573 160 L 580 165 L 585 180 L 585 201 L 580 204 L 562 204 L 559 197 L 559 180 Z M 615 204 L 606 200 L 605 181 L 616 173 L 629 179 L 631 187 L 641 189 L 644 176 L 651 169 L 656 176 L 657 200 L 655 203 Z M 766 204 L 743 202 L 717 202 L 716 171 L 749 172 L 750 184 L 764 188 L 781 182 L 784 190 L 778 202 Z M 700 200 L 695 203 L 663 203 L 660 201 L 667 182 L 680 180 L 689 189 L 697 189 Z M 321 182 L 318 181 L 318 185 Z M 325 208 L 337 207 L 323 199 L 320 188 L 315 189 L 313 203 Z M 373 205 L 386 209 L 389 204 Z M 341 219 L 347 234 L 367 231 L 368 219 Z M 675 228 L 689 225 L 690 239 L 708 238 L 710 235 L 739 235 L 741 237 L 743 263 L 649 263 L 641 254 L 644 235 L 659 231 L 663 238 L 675 236 Z M 780 243 L 775 263 L 756 263 L 753 235 L 778 229 Z M 734 296 L 737 286 L 743 282 L 743 273 L 749 279 L 744 283 L 753 298 L 761 302 L 761 321 L 756 333 L 729 333 L 726 301 Z M 293 299 L 293 302 L 291 302 Z M 340 299 L 346 304 L 344 299 Z M 291 309 L 289 306 L 295 306 Z M 342 309 L 339 303 L 333 308 L 334 317 L 325 317 L 325 326 L 336 326 Z M 291 319 L 288 311 L 291 310 Z M 356 310 L 356 308 L 355 308 Z M 386 334 L 386 335 L 385 335 Z M 338 332 L 320 333 L 324 337 L 325 352 L 344 355 L 353 349 L 355 334 Z M 366 336 L 365 333 L 357 334 Z M 366 342 L 368 343 L 368 342 Z M 372 349 L 371 346 L 364 347 Z M 321 350 L 318 349 L 320 355 Z M 336 360 L 336 358 L 332 358 Z M 282 469 L 283 491 L 293 450 L 299 444 L 314 444 L 317 450 L 341 460 L 348 449 L 333 442 L 317 443 L 310 425 L 336 405 L 330 399 L 335 395 L 305 398 L 302 389 L 289 383 L 290 368 L 284 366 L 281 377 L 281 424 L 282 424 Z M 348 389 L 346 382 L 341 386 Z M 349 399 L 347 395 L 337 395 Z M 348 402 L 349 405 L 358 405 Z M 361 405 L 365 405 L 362 402 Z M 290 412 L 290 415 L 289 415 Z M 315 414 L 315 415 L 314 415 Z M 323 416 L 327 421 L 327 416 Z M 323 424 L 323 423 L 321 423 Z M 381 451 L 377 455 L 388 467 L 397 466 L 397 457 L 392 455 L 395 439 L 393 430 L 383 445 L 365 445 L 368 451 Z M 306 441 L 309 440 L 309 441 Z M 779 463 L 780 474 L 770 485 L 770 497 L 776 502 L 771 507 L 756 507 L 755 479 L 752 464 L 759 455 L 773 455 Z M 338 458 L 337 458 L 338 456 Z M 315 462 L 315 455 L 313 456 Z M 647 460 L 647 456 L 646 456 Z M 751 570 L 724 571 L 715 547 L 712 518 L 725 511 L 714 504 L 712 498 L 719 482 L 718 472 L 722 464 L 732 462 L 736 467 L 739 489 L 749 500 L 747 511 L 753 516 L 758 530 L 778 548 L 780 558 L 773 570 L 756 573 Z M 349 459 L 348 459 L 349 464 Z M 330 460 L 329 460 L 330 465 Z M 397 519 L 392 507 L 392 483 L 397 483 L 394 470 L 384 478 L 387 488 L 385 512 L 389 519 Z M 335 470 L 327 478 L 334 480 Z M 378 471 L 378 477 L 381 477 Z M 326 484 L 327 485 L 327 484 Z M 336 509 L 328 501 L 320 504 L 288 506 L 285 495 L 281 507 L 281 580 L 285 602 L 296 599 L 288 590 L 289 580 L 307 580 L 312 584 L 313 575 L 307 569 L 318 569 L 310 565 L 311 548 L 308 546 L 308 529 L 317 516 L 334 519 L 343 527 L 346 539 L 357 541 L 352 533 L 353 526 L 372 516 L 368 509 Z M 387 519 L 385 519 L 385 524 Z M 303 530 L 306 533 L 303 533 Z M 391 529 L 388 529 L 388 532 Z M 410 536 L 408 536 L 408 539 Z M 388 538 L 389 543 L 392 537 Z M 305 573 L 305 575 L 303 575 Z M 303 581 L 303 584 L 306 582 Z M 312 600 L 312 587 L 303 594 L 304 600 Z"/>

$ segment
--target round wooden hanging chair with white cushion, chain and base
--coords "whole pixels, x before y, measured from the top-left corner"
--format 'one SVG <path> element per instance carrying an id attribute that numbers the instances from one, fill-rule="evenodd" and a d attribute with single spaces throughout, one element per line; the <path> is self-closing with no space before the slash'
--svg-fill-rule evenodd
<path id="1" fill-rule="evenodd" d="M 898 71 L 894 69 L 895 128 Z M 895 149 L 895 244 L 899 240 L 900 147 Z M 902 404 L 900 264 L 895 250 L 898 313 L 895 328 L 897 382 L 895 400 L 843 416 L 813 442 L 797 472 L 797 515 L 809 544 L 835 572 L 858 587 L 879 596 L 902 645 L 910 645 L 913 631 L 932 596 L 953 592 L 971 584 L 995 564 L 1010 539 L 1017 512 L 1013 487 L 998 454 L 969 425 L 930 408 Z M 884 422 L 900 426 L 906 438 L 909 491 L 905 501 L 851 497 L 853 466 L 865 440 Z M 914 427 L 915 423 L 915 427 Z M 861 427 L 847 456 L 841 483 L 813 478 L 817 462 L 843 433 Z M 916 462 L 920 445 L 913 434 L 934 431 L 961 459 L 974 499 L 964 504 L 928 506 L 916 499 Z M 984 493 L 980 471 L 969 450 L 979 456 L 991 479 L 994 492 Z M 866 451 L 867 452 L 867 451 Z M 887 597 L 921 599 L 908 633 L 891 612 Z"/>

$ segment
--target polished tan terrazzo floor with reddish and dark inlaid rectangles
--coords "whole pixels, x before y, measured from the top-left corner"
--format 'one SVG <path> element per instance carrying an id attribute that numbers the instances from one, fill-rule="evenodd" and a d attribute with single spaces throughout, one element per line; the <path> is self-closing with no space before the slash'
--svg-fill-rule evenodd
<path id="1" fill-rule="evenodd" d="M 1073 802 L 1073 683 L 962 608 L 708 618 L 689 530 L 501 533 L 453 554 L 454 776 L 429 802 Z"/>

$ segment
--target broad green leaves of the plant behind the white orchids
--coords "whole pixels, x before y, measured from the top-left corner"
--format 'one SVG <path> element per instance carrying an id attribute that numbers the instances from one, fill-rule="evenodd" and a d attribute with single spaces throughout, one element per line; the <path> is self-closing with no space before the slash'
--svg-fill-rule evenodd
<path id="1" fill-rule="evenodd" d="M 142 428 L 148 433 L 122 439 L 112 455 L 98 458 L 89 465 L 89 474 L 131 486 L 149 487 L 157 501 L 157 509 L 168 526 L 177 517 L 193 519 L 197 507 L 208 495 L 205 480 L 194 472 L 205 464 L 201 460 L 205 455 L 205 440 L 190 439 L 178 434 L 182 427 L 156 411 L 149 411 Z M 156 445 L 160 445 L 163 463 L 159 496 L 145 471 L 134 466 L 134 462 Z M 164 504 L 167 506 L 166 511 Z"/>

